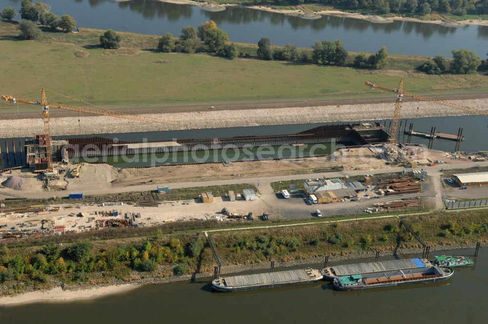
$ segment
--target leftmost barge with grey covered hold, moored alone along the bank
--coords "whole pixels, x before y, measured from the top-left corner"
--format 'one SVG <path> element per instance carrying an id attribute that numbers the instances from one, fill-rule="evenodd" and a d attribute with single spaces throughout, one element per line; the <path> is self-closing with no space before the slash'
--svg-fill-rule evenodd
<path id="1" fill-rule="evenodd" d="M 312 284 L 322 278 L 323 276 L 319 269 L 307 268 L 233 277 L 219 277 L 212 281 L 212 288 L 221 292 L 234 292 Z"/>

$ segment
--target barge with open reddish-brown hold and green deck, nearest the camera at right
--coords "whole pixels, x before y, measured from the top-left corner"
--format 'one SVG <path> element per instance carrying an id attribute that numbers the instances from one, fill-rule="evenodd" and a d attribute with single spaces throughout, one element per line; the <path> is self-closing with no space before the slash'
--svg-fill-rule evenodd
<path id="1" fill-rule="evenodd" d="M 424 268 L 393 270 L 368 274 L 340 276 L 334 279 L 334 288 L 338 290 L 360 290 L 400 286 L 405 284 L 427 284 L 445 281 L 454 273 L 451 268 L 430 266 Z"/>

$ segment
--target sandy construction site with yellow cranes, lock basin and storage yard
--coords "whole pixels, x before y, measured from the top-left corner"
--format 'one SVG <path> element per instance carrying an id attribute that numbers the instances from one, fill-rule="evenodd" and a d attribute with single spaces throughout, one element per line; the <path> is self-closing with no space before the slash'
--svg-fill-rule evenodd
<path id="1" fill-rule="evenodd" d="M 487 154 L 485 151 L 450 154 L 427 150 L 409 141 L 400 142 L 397 134 L 402 127 L 409 137 L 427 136 L 415 133 L 413 123 L 408 130 L 407 121 L 399 124 L 402 100 L 410 97 L 434 102 L 469 114 L 487 115 L 487 112 L 409 93 L 403 90 L 403 81 L 394 89 L 367 81 L 365 84 L 395 94 L 394 116 L 388 125 L 339 123 L 289 134 L 162 138 L 144 142 L 100 136 L 54 140 L 49 112 L 57 108 L 130 122 L 165 125 L 178 122 L 122 114 L 98 106 L 50 103 L 44 89 L 40 101 L 2 96 L 11 103 L 41 106 L 44 132 L 25 141 L 23 147 L 19 144 L 20 152 L 15 152 L 16 143 L 13 155 L 0 152 L 7 159 L 6 165 L 12 164 L 12 159 L 16 165 L 0 172 L 0 198 L 4 201 L 0 206 L 1 238 L 195 219 L 266 222 L 322 217 L 315 203 L 321 204 L 325 216 L 444 208 L 440 173 L 443 165 L 452 168 L 484 165 Z M 465 140 L 461 128 L 457 135 L 447 135 L 433 128 L 430 139 Z M 228 148 L 237 152 L 230 159 L 223 154 Z M 277 149 L 278 153 L 260 154 L 263 148 Z M 211 158 L 201 159 L 201 154 L 208 151 L 214 152 Z M 148 156 L 162 154 L 167 155 L 167 160 L 157 163 L 147 160 Z M 181 160 L 183 154 L 195 157 Z M 126 157 L 143 157 L 148 162 L 129 159 L 123 167 L 107 163 Z M 273 182 L 300 179 L 304 179 L 303 189 L 295 185 L 285 187 L 291 196 L 273 189 Z"/>

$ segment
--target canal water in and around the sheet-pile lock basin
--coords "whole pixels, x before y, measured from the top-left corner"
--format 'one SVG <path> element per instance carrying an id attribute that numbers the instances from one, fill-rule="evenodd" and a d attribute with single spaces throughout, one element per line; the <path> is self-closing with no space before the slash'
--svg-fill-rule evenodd
<path id="1" fill-rule="evenodd" d="M 357 121 L 359 122 L 359 121 Z M 386 122 L 386 128 L 388 128 L 390 121 Z M 425 145 L 427 148 L 432 148 L 436 150 L 443 150 L 447 152 L 451 151 L 465 151 L 465 152 L 475 152 L 475 151 L 487 151 L 488 144 L 486 139 L 488 138 L 488 116 L 462 116 L 462 117 L 436 117 L 436 118 L 419 118 L 411 120 L 400 120 L 402 123 L 402 128 L 400 129 L 400 142 L 408 143 L 418 143 Z M 407 122 L 413 122 L 413 130 L 418 132 L 430 133 L 431 127 L 436 127 L 437 132 L 457 134 L 459 127 L 463 127 L 463 134 L 466 138 L 464 142 L 454 142 L 443 139 L 436 139 L 435 141 L 429 141 L 424 138 L 411 136 L 408 137 L 404 135 L 403 129 Z M 342 122 L 336 122 L 342 123 Z M 312 124 L 293 124 L 293 125 L 270 125 L 270 126 L 250 126 L 250 127 L 231 127 L 231 128 L 210 128 L 210 129 L 189 129 L 189 130 L 175 130 L 175 131 L 161 131 L 161 132 L 135 132 L 135 133 L 116 133 L 116 134 L 93 134 L 93 135 L 77 135 L 70 137 L 92 137 L 101 136 L 108 138 L 116 138 L 120 141 L 171 141 L 171 140 L 183 140 L 183 139 L 206 139 L 206 138 L 219 138 L 219 137 L 231 137 L 231 136 L 246 136 L 252 135 L 279 135 L 279 134 L 293 134 L 307 129 L 311 129 L 320 125 L 332 124 L 332 123 L 312 123 Z M 55 139 L 66 138 L 66 137 L 55 137 Z M 25 153 L 20 151 L 20 148 L 25 142 L 24 138 L 14 138 L 14 139 L 0 139 L 0 168 L 7 168 L 13 166 L 19 166 L 25 163 Z M 13 146 L 15 144 L 15 155 Z M 8 154 L 7 154 L 8 146 Z M 308 149 L 300 150 L 300 147 L 295 147 L 294 151 L 284 150 L 284 157 L 297 156 L 289 154 L 289 152 L 297 152 L 298 156 L 308 155 Z M 313 154 L 322 155 L 328 154 L 330 150 L 330 145 L 324 149 L 316 147 Z M 256 152 L 255 149 L 250 150 Z M 278 150 L 276 150 L 278 152 Z M 155 155 L 155 161 L 144 156 L 128 156 L 127 160 L 114 160 L 113 158 L 107 158 L 106 161 L 113 165 L 119 167 L 127 166 L 143 166 L 143 165 L 154 165 L 154 164 L 166 164 L 166 163 L 192 163 L 192 162 L 205 162 L 202 161 L 202 157 L 205 156 L 203 152 L 195 152 L 194 159 L 192 160 L 192 154 L 189 154 L 189 159 L 185 160 L 184 153 L 178 152 L 174 155 Z M 8 159 L 7 159 L 8 156 Z M 15 160 L 14 160 L 15 156 Z M 239 159 L 241 157 L 249 156 L 246 152 L 234 152 L 229 151 L 229 157 L 236 157 Z M 164 159 L 163 159 L 164 157 Z M 215 152 L 210 152 L 208 154 L 209 161 L 213 162 L 215 157 Z M 222 156 L 217 154 L 218 160 L 224 161 Z M 264 158 L 274 158 L 275 155 L 265 155 Z M 232 159 L 232 160 L 236 160 Z M 249 158 L 247 158 L 249 159 Z M 228 159 L 226 159 L 228 160 Z M 448 160 L 447 160 L 448 161 Z M 93 161 L 91 161 L 93 162 Z"/>

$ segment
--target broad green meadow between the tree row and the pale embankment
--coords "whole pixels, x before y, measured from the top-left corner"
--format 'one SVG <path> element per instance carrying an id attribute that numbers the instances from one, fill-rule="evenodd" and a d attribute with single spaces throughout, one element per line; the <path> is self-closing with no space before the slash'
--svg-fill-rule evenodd
<path id="1" fill-rule="evenodd" d="M 425 58 L 392 56 L 389 69 L 383 71 L 283 61 L 229 61 L 206 54 L 155 53 L 151 49 L 156 47 L 158 36 L 121 33 L 121 49 L 103 50 L 97 47 L 102 31 L 43 32 L 40 41 L 18 41 L 16 28 L 0 22 L 4 67 L 0 89 L 2 95 L 23 99 L 38 100 L 41 87 L 111 107 L 364 98 L 387 96 L 370 91 L 363 85 L 365 80 L 395 87 L 400 77 L 413 92 L 488 90 L 486 76 L 440 77 L 409 71 Z M 77 50 L 88 56 L 76 56 Z M 48 101 L 84 105 L 53 93 L 47 95 Z M 0 103 L 0 107 L 4 112 L 17 110 L 7 103 Z M 26 105 L 19 108 L 38 109 Z"/>

